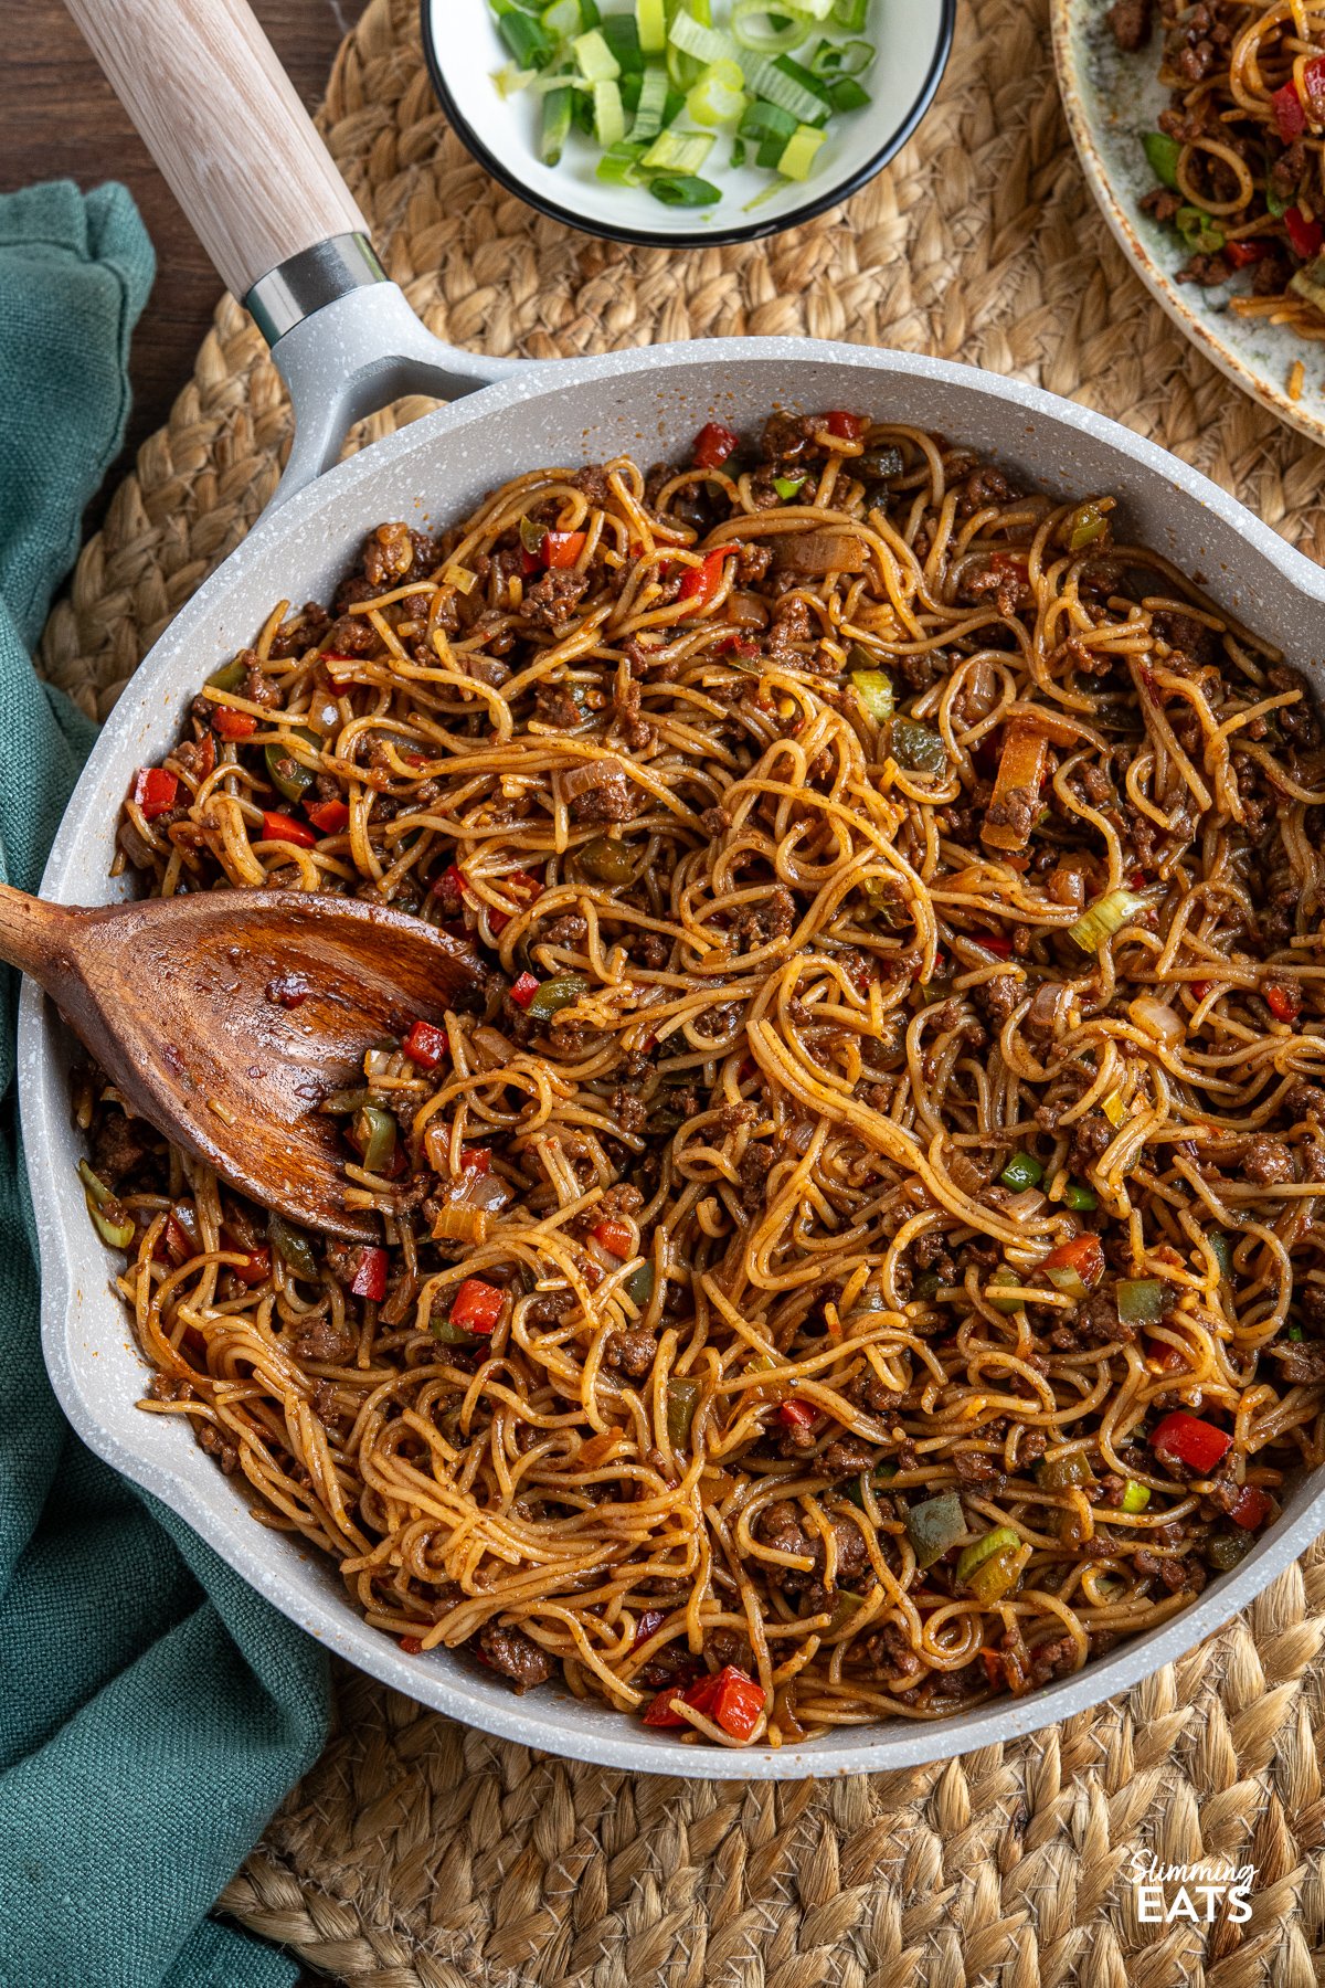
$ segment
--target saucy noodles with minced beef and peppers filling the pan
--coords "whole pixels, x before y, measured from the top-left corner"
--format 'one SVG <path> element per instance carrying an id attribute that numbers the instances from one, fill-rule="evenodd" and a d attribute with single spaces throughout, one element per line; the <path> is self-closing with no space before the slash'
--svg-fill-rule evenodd
<path id="1" fill-rule="evenodd" d="M 779 1745 L 1075 1670 L 1325 1455 L 1325 751 L 1110 499 L 735 451 L 377 527 L 125 803 L 149 891 L 475 942 L 322 1107 L 381 1248 L 77 1113 L 145 1406 L 369 1624 Z"/>

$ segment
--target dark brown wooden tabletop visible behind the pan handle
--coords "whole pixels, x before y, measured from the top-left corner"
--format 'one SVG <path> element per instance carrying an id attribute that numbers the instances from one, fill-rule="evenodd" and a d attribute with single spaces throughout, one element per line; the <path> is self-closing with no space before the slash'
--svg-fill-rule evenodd
<path id="1" fill-rule="evenodd" d="M 314 105 L 364 0 L 252 6 L 300 95 Z M 0 12 L 0 193 L 34 179 L 75 179 L 79 187 L 121 179 L 157 245 L 157 286 L 133 340 L 129 439 L 91 507 L 95 525 L 133 449 L 161 427 L 187 382 L 221 282 L 60 0 L 24 0 Z"/>

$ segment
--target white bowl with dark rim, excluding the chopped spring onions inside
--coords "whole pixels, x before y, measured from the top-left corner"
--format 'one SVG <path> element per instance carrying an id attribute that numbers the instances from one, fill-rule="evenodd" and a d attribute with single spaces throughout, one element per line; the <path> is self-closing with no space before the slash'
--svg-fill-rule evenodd
<path id="1" fill-rule="evenodd" d="M 618 0 L 606 0 L 622 12 Z M 556 167 L 538 157 L 538 103 L 530 91 L 503 97 L 493 83 L 511 60 L 489 0 L 423 0 L 423 54 L 441 107 L 493 179 L 554 221 L 614 241 L 699 248 L 779 235 L 866 185 L 902 149 L 940 85 L 957 16 L 957 0 L 870 0 L 862 36 L 878 60 L 864 83 L 872 103 L 838 115 L 807 181 L 787 181 L 745 213 L 773 185 L 757 167 L 731 169 L 731 139 L 717 135 L 705 179 L 723 189 L 715 207 L 663 207 L 646 187 L 608 187 L 596 177 L 592 139 L 572 131 Z M 842 30 L 830 30 L 840 34 Z M 801 50 L 793 50 L 801 54 Z"/>

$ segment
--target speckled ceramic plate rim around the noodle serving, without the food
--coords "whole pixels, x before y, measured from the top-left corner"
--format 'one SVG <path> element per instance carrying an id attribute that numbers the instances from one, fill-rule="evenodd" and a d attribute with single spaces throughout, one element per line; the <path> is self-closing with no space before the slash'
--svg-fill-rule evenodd
<path id="1" fill-rule="evenodd" d="M 1279 419 L 1325 443 L 1325 346 L 1263 318 L 1240 318 L 1230 290 L 1178 282 L 1188 258 L 1172 233 L 1140 211 L 1154 185 L 1140 133 L 1154 131 L 1168 101 L 1158 82 L 1158 30 L 1124 56 L 1108 28 L 1108 0 L 1051 0 L 1053 58 L 1067 123 L 1104 221 L 1150 294 L 1208 360 Z M 1242 284 L 1246 290 L 1246 284 Z M 1301 400 L 1289 400 L 1293 362 L 1305 366 Z"/>

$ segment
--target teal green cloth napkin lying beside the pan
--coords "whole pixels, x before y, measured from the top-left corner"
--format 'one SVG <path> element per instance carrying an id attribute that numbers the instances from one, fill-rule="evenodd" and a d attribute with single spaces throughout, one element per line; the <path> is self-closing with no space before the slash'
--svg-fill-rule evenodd
<path id="1" fill-rule="evenodd" d="M 123 437 L 151 276 L 123 187 L 0 197 L 0 875 L 24 891 L 93 740 L 30 650 Z M 60 1413 L 16 994 L 0 970 L 0 1988 L 288 1988 L 207 1912 L 322 1747 L 326 1664 Z"/>

